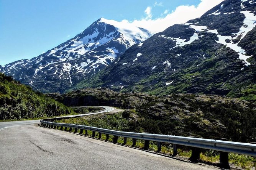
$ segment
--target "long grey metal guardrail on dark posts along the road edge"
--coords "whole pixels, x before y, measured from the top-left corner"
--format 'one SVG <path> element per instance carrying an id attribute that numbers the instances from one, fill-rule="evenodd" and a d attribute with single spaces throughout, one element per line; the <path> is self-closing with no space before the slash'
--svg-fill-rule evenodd
<path id="1" fill-rule="evenodd" d="M 136 144 L 136 139 L 144 140 L 144 149 L 149 149 L 149 141 L 156 141 L 158 146 L 158 152 L 161 151 L 161 143 L 171 143 L 173 146 L 173 154 L 172 156 L 177 155 L 177 145 L 190 146 L 192 147 L 192 155 L 190 160 L 192 162 L 196 162 L 200 159 L 200 149 L 213 149 L 220 152 L 220 167 L 230 168 L 228 164 L 228 153 L 237 153 L 248 155 L 252 157 L 256 157 L 256 144 L 250 143 L 239 143 L 239 142 L 231 142 L 231 141 L 222 141 L 222 140 L 210 140 L 210 139 L 202 139 L 202 138 L 193 138 L 193 137 L 183 137 L 183 136 L 172 136 L 172 135 L 157 135 L 157 134 L 149 134 L 149 133 L 134 133 L 134 132 L 121 132 L 116 130 L 109 130 L 97 127 L 90 127 L 84 125 L 75 125 L 75 124 L 67 124 L 67 123 L 56 123 L 50 122 L 51 120 L 40 120 L 43 127 L 49 128 L 60 128 L 60 130 L 67 130 L 69 128 L 69 132 L 74 128 L 74 133 L 77 133 L 77 130 L 80 129 L 79 134 L 83 134 L 85 130 L 85 134 L 87 135 L 87 130 L 92 131 L 92 137 L 95 137 L 95 132 L 98 132 L 99 139 L 101 138 L 102 133 L 106 134 L 106 140 L 108 140 L 109 135 L 113 135 L 113 143 L 117 143 L 118 137 L 124 138 L 124 143 L 126 144 L 127 138 L 133 139 L 133 146 Z"/>

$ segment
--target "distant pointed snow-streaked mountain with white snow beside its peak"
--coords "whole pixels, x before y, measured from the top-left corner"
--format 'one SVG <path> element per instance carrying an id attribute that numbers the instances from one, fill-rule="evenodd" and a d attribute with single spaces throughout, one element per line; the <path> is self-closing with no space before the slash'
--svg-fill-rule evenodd
<path id="1" fill-rule="evenodd" d="M 1 72 L 42 92 L 63 92 L 151 36 L 132 24 L 100 18 L 67 42 L 30 60 L 6 64 Z"/>

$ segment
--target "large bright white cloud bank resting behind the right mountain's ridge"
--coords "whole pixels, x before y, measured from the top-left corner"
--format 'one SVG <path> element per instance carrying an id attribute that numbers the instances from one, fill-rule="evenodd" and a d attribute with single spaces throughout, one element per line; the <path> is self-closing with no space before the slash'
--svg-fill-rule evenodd
<path id="1" fill-rule="evenodd" d="M 201 0 L 197 6 L 181 5 L 171 13 L 167 14 L 164 18 L 157 19 L 152 19 L 151 7 L 148 6 L 144 11 L 146 13 L 146 18 L 141 20 L 134 20 L 132 23 L 152 32 L 161 32 L 174 24 L 182 24 L 189 21 L 190 19 L 199 18 L 205 12 L 218 5 L 222 1 L 223 0 Z"/>

